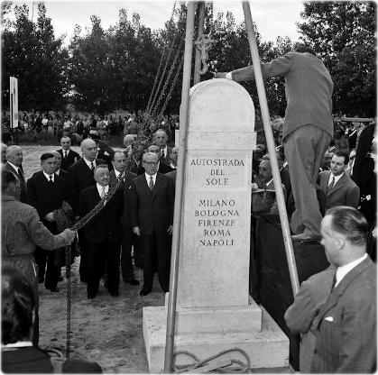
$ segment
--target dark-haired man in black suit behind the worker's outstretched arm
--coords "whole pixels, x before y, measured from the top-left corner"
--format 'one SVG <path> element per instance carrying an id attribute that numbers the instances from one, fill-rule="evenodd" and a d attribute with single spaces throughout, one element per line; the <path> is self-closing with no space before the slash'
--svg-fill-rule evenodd
<path id="1" fill-rule="evenodd" d="M 52 234 L 58 234 L 54 210 L 60 208 L 66 198 L 66 180 L 54 173 L 56 160 L 50 152 L 41 155 L 41 168 L 42 170 L 34 173 L 28 181 L 28 204 L 37 210 L 41 222 L 46 228 Z M 51 292 L 58 292 L 60 267 L 54 266 L 55 252 L 47 252 L 38 246 L 34 252 L 34 258 L 38 265 L 38 281 L 43 282 L 44 280 L 47 289 L 50 289 Z"/>

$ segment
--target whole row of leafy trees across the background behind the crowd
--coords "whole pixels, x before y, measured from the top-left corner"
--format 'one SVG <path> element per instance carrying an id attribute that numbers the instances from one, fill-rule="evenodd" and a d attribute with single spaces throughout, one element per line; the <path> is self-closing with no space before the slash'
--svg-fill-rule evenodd
<path id="1" fill-rule="evenodd" d="M 10 12 L 14 12 L 12 22 L 7 17 Z M 373 14 L 372 5 L 304 5 L 300 14 L 300 42 L 316 50 L 334 79 L 335 113 L 373 115 Z M 137 111 L 151 106 L 154 87 L 155 92 L 163 91 L 161 96 L 170 94 L 166 111 L 178 112 L 182 73 L 177 70 L 182 63 L 185 17 L 184 7 L 174 9 L 164 29 L 152 31 L 141 24 L 138 14 L 130 18 L 121 9 L 118 22 L 104 30 L 101 19 L 93 15 L 90 29 L 83 32 L 77 25 L 65 46 L 64 35 L 54 36 L 44 5 L 38 5 L 34 23 L 26 5 L 5 5 L 5 103 L 9 103 L 9 76 L 14 76 L 19 79 L 19 107 L 25 110 L 57 110 L 71 103 L 77 110 L 99 114 L 116 108 Z M 205 32 L 215 43 L 208 53 L 209 71 L 202 79 L 217 70 L 251 63 L 245 24 L 235 24 L 233 14 L 227 13 L 225 20 L 223 14 L 214 16 L 208 5 Z M 296 44 L 288 37 L 275 43 L 262 41 L 256 28 L 255 34 L 263 61 L 281 56 Z M 176 85 L 171 87 L 173 81 Z M 254 83 L 244 87 L 258 104 Z M 271 113 L 283 115 L 283 78 L 266 82 L 266 93 Z M 156 96 L 154 103 L 164 109 L 161 98 Z"/>

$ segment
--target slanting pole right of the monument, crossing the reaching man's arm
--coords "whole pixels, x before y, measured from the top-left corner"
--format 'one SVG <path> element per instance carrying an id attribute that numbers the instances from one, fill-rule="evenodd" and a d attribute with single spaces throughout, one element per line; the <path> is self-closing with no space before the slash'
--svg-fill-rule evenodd
<path id="1" fill-rule="evenodd" d="M 265 95 L 265 87 L 263 86 L 263 73 L 260 66 L 259 51 L 257 50 L 256 38 L 254 36 L 254 23 L 251 16 L 251 8 L 248 0 L 243 0 L 243 11 L 245 25 L 248 32 L 249 47 L 251 50 L 252 63 L 254 65 L 254 78 L 256 80 L 257 93 L 259 96 L 260 108 L 263 115 L 263 129 L 265 132 L 266 142 L 268 145 L 269 156 L 272 165 L 272 176 L 274 181 L 274 189 L 276 192 L 279 214 L 281 219 L 281 227 L 283 234 L 283 243 L 285 245 L 286 258 L 288 260 L 290 281 L 293 295 L 298 293 L 300 281 L 298 279 L 297 264 L 295 262 L 294 250 L 292 247 L 289 218 L 286 212 L 285 198 L 281 185 L 280 169 L 278 168 L 277 154 L 275 152 L 271 119 L 269 116 L 268 102 Z"/>

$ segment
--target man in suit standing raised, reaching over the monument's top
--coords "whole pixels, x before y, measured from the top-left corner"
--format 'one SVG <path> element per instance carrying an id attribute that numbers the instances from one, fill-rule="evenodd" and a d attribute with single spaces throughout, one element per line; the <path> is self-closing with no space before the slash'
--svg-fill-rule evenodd
<path id="1" fill-rule="evenodd" d="M 285 77 L 288 105 L 283 125 L 283 145 L 289 163 L 295 212 L 290 228 L 293 241 L 320 238 L 320 213 L 316 182 L 321 160 L 334 132 L 332 78 L 314 50 L 300 45 L 295 52 L 261 64 L 263 78 Z M 254 67 L 217 73 L 215 78 L 254 80 Z"/>

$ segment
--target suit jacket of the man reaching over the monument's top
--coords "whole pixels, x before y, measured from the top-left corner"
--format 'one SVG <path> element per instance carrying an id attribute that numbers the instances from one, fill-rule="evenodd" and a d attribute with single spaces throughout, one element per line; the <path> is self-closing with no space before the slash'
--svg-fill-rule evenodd
<path id="1" fill-rule="evenodd" d="M 285 139 L 300 126 L 312 123 L 331 136 L 332 78 L 323 61 L 310 53 L 288 52 L 271 62 L 261 64 L 263 78 L 284 77 L 287 107 L 282 137 Z M 254 67 L 236 69 L 235 81 L 254 79 Z"/>

